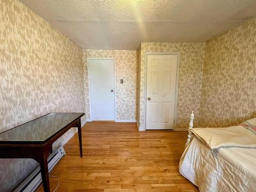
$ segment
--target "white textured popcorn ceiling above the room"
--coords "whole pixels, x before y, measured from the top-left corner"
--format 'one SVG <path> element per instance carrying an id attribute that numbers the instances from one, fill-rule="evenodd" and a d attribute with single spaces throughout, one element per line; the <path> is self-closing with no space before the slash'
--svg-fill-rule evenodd
<path id="1" fill-rule="evenodd" d="M 84 49 L 202 42 L 256 16 L 256 0 L 20 0 Z"/>

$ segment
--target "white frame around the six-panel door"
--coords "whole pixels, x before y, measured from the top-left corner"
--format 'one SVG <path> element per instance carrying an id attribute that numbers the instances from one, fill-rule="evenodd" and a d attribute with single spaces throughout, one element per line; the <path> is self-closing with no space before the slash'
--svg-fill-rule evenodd
<path id="1" fill-rule="evenodd" d="M 174 129 L 176 128 L 177 123 L 177 103 L 178 103 L 178 86 L 179 86 L 179 71 L 180 71 L 180 52 L 146 52 L 145 54 L 145 78 L 144 78 L 144 131 L 146 131 L 146 82 L 147 82 L 147 55 L 177 55 L 177 69 L 176 69 L 176 88 L 175 88 L 175 103 L 174 103 Z"/>

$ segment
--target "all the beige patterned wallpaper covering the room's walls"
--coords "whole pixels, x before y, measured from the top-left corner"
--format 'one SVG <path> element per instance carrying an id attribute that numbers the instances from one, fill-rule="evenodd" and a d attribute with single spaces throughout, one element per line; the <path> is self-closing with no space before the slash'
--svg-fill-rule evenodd
<path id="1" fill-rule="evenodd" d="M 115 58 L 116 118 L 137 119 L 143 127 L 147 52 L 180 52 L 176 128 L 187 129 L 191 110 L 195 126 L 228 126 L 256 115 L 256 18 L 206 43 L 82 50 L 17 0 L 0 0 L 0 10 L 0 132 L 50 112 L 84 112 L 82 120 L 90 119 L 88 57 Z M 36 164 L 1 159 L 0 191 L 10 190 Z"/>

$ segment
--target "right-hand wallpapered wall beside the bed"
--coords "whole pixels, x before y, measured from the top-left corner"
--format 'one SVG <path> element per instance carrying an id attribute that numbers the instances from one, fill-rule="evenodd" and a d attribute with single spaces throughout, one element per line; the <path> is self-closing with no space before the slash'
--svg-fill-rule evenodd
<path id="1" fill-rule="evenodd" d="M 206 42 L 200 126 L 256 116 L 256 18 Z"/>

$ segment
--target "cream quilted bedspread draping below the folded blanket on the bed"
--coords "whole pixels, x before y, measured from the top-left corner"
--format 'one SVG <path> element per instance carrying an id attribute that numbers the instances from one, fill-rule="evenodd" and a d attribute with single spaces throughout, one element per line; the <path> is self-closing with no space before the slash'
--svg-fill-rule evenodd
<path id="1" fill-rule="evenodd" d="M 200 191 L 256 191 L 256 148 L 210 150 L 194 136 L 181 157 L 179 170 Z"/>

